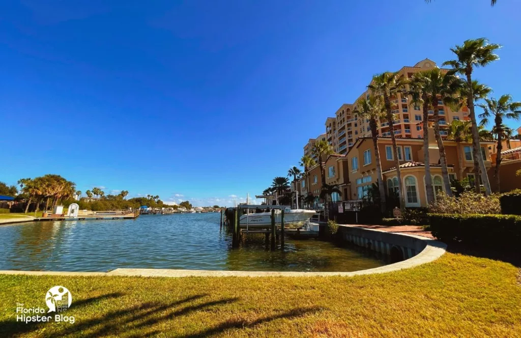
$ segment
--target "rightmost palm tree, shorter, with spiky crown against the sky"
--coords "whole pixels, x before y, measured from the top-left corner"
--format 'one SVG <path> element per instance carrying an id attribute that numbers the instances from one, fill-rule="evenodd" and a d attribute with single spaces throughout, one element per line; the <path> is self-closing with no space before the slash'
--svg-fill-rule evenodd
<path id="1" fill-rule="evenodd" d="M 499 100 L 496 100 L 494 98 L 485 99 L 485 102 L 486 104 L 479 105 L 483 109 L 483 113 L 479 115 L 479 117 L 481 118 L 480 125 L 486 126 L 489 123 L 489 118 L 494 116 L 494 128 L 495 133 L 498 137 L 498 154 L 495 158 L 494 176 L 499 192 L 499 168 L 501 166 L 501 150 L 503 149 L 503 145 L 501 144 L 504 126 L 503 119 L 519 119 L 519 117 L 521 117 L 521 102 L 512 102 L 512 95 L 510 94 L 501 95 L 501 98 L 499 98 Z"/>

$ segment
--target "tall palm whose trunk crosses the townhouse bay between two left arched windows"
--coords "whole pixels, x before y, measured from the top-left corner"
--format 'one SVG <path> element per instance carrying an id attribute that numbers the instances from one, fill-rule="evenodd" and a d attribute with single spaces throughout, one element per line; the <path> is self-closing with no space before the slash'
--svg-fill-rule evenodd
<path id="1" fill-rule="evenodd" d="M 387 122 L 389 123 L 389 131 L 391 132 L 391 142 L 394 153 L 394 165 L 396 166 L 396 176 L 398 177 L 398 191 L 400 195 L 400 208 L 405 211 L 405 195 L 402 184 L 402 174 L 400 172 L 400 161 L 398 160 L 398 147 L 396 146 L 396 138 L 394 137 L 393 114 L 391 106 L 391 96 L 398 91 L 403 90 L 406 80 L 400 77 L 398 73 L 382 73 L 373 77 L 373 81 L 367 88 L 373 91 L 375 95 L 381 95 L 383 104 L 387 113 Z"/>

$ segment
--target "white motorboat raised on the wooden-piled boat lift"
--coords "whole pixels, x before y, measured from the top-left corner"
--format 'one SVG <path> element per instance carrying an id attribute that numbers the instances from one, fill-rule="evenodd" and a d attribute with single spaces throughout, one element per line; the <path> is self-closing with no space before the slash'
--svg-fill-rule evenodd
<path id="1" fill-rule="evenodd" d="M 305 225 L 315 214 L 315 210 L 284 209 L 284 227 L 296 228 Z M 280 226 L 282 212 L 275 210 L 275 224 Z M 271 225 L 271 212 L 259 212 L 242 215 L 239 219 L 241 226 L 269 226 Z"/>

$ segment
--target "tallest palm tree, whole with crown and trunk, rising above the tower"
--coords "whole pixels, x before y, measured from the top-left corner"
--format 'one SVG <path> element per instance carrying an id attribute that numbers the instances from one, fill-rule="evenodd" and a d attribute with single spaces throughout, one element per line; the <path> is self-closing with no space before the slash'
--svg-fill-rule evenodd
<path id="1" fill-rule="evenodd" d="M 453 68 L 453 73 L 459 73 L 465 75 L 467 79 L 467 106 L 469 110 L 470 122 L 472 123 L 472 146 L 473 146 L 473 158 L 474 158 L 474 174 L 476 177 L 481 176 L 481 182 L 485 186 L 485 194 L 490 195 L 490 183 L 487 176 L 487 170 L 485 168 L 485 162 L 483 162 L 483 156 L 481 155 L 480 144 L 479 144 L 479 132 L 478 123 L 476 119 L 475 107 L 474 107 L 474 93 L 472 83 L 472 71 L 475 67 L 485 67 L 489 63 L 499 59 L 499 56 L 494 52 L 501 48 L 499 44 L 491 44 L 485 38 L 479 38 L 475 40 L 466 40 L 463 45 L 456 45 L 451 48 L 451 51 L 456 54 L 457 59 L 446 61 L 443 65 L 449 65 Z M 479 179 L 476 179 L 476 192 L 481 192 Z"/>

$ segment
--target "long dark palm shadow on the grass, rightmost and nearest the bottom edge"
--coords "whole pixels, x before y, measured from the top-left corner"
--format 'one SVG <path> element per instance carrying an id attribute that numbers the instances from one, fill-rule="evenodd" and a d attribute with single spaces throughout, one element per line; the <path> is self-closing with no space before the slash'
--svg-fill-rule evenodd
<path id="1" fill-rule="evenodd" d="M 245 329 L 245 328 L 254 328 L 257 325 L 261 325 L 276 319 L 292 319 L 296 317 L 302 317 L 306 315 L 306 313 L 314 313 L 323 310 L 324 308 L 314 306 L 314 307 L 308 307 L 308 308 L 296 308 L 292 309 L 287 312 L 280 313 L 279 315 L 274 316 L 268 316 L 264 318 L 259 318 L 255 321 L 248 322 L 247 320 L 235 320 L 235 321 L 229 321 L 229 322 L 223 322 L 219 325 L 216 325 L 213 328 L 209 328 L 207 330 L 201 331 L 196 334 L 190 334 L 190 335 L 184 335 L 185 338 L 198 338 L 198 337 L 207 337 L 210 335 L 215 335 L 218 333 L 223 333 L 226 330 L 229 329 Z"/>

